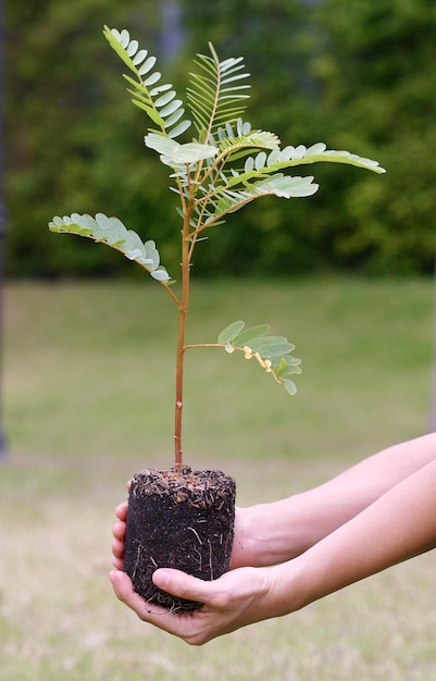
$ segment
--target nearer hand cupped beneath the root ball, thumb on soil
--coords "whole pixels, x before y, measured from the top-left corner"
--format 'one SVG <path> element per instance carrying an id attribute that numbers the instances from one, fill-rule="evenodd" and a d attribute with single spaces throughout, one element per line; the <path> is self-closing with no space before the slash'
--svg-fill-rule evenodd
<path id="1" fill-rule="evenodd" d="M 240 627 L 281 614 L 274 611 L 271 598 L 273 571 L 274 568 L 239 568 L 207 582 L 179 570 L 158 569 L 152 579 L 159 589 L 179 598 L 204 604 L 198 610 L 186 614 L 171 612 L 147 603 L 134 592 L 125 572 L 113 570 L 110 580 L 117 598 L 139 619 L 179 636 L 190 645 L 203 645 Z"/>

